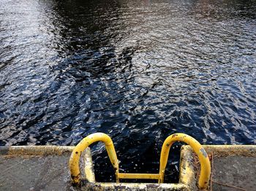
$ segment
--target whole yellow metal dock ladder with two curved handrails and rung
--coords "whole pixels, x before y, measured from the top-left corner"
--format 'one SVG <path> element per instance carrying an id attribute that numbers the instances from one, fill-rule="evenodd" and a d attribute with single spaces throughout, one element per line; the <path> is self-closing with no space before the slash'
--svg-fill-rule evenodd
<path id="1" fill-rule="evenodd" d="M 184 133 L 175 133 L 170 135 L 165 139 L 164 144 L 162 145 L 162 151 L 160 155 L 160 167 L 159 174 L 127 174 L 127 173 L 119 173 L 118 159 L 116 156 L 116 150 L 113 146 L 113 141 L 110 139 L 105 133 L 93 133 L 89 136 L 86 136 L 80 143 L 75 147 L 72 151 L 72 155 L 69 159 L 69 168 L 71 173 L 72 182 L 74 184 L 80 183 L 80 169 L 79 169 L 79 159 L 80 155 L 84 149 L 89 147 L 89 145 L 94 142 L 102 141 L 105 144 L 105 147 L 108 152 L 108 157 L 116 171 L 116 182 L 119 182 L 119 179 L 157 179 L 158 183 L 164 182 L 165 176 L 165 167 L 167 165 L 167 159 L 170 151 L 170 147 L 172 147 L 173 143 L 176 141 L 182 141 L 186 144 L 189 144 L 190 147 L 197 154 L 200 161 L 200 178 L 198 181 L 198 186 L 200 189 L 205 189 L 208 185 L 208 181 L 211 176 L 211 165 L 208 158 L 208 155 L 203 149 L 202 145 Z"/>

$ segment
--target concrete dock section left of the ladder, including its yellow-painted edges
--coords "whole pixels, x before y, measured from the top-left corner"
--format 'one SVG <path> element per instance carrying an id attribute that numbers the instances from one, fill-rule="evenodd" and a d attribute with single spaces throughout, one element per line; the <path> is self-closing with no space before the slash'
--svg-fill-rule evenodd
<path id="1" fill-rule="evenodd" d="M 74 147 L 0 147 L 0 190 L 80 190 L 72 187 L 70 180 L 72 149 Z M 90 149 L 86 149 L 80 159 L 81 169 L 85 170 L 82 176 L 87 176 L 86 172 L 94 176 Z"/>

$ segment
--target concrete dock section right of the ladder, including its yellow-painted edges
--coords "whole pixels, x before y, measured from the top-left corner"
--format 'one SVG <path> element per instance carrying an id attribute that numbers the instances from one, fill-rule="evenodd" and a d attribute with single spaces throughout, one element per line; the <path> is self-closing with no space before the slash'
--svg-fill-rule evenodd
<path id="1" fill-rule="evenodd" d="M 208 190 L 255 190 L 256 145 L 205 145 L 211 160 Z M 179 183 L 197 189 L 200 165 L 189 146 L 181 147 Z"/>

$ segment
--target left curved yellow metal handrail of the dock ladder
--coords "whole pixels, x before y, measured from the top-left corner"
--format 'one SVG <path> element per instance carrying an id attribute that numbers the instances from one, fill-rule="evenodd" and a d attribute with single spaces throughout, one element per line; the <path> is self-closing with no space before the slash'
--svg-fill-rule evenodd
<path id="1" fill-rule="evenodd" d="M 105 133 L 93 133 L 89 136 L 86 136 L 86 138 L 80 141 L 80 143 L 72 151 L 71 157 L 69 159 L 69 168 L 73 183 L 80 183 L 79 158 L 81 153 L 83 152 L 83 150 L 89 147 L 90 144 L 93 144 L 97 141 L 104 142 L 108 152 L 108 156 L 110 157 L 110 161 L 116 170 L 116 174 L 118 174 L 118 159 L 116 157 L 116 150 L 110 136 L 106 135 Z M 116 181 L 118 182 L 118 178 Z"/>

